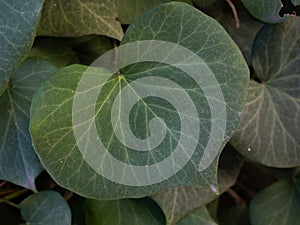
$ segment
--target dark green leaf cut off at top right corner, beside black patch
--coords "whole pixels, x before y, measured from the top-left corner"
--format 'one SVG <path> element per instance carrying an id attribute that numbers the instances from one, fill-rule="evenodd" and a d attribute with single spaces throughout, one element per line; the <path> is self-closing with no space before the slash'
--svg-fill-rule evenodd
<path id="1" fill-rule="evenodd" d="M 254 17 L 263 22 L 278 23 L 287 17 L 287 15 L 279 16 L 282 7 L 281 0 L 242 0 L 242 2 Z M 290 2 L 294 5 L 300 4 L 300 0 L 291 0 Z"/>

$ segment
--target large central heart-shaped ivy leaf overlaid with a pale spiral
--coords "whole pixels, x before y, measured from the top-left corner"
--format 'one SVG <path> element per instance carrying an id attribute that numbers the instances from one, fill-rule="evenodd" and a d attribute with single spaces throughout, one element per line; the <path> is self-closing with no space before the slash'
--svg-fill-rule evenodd
<path id="1" fill-rule="evenodd" d="M 195 24 L 197 24 L 196 27 Z M 170 30 L 168 31 L 168 29 Z M 176 31 L 178 29 L 182 29 L 180 34 Z M 176 32 L 172 33 L 171 31 Z M 36 92 L 31 108 L 30 125 L 35 150 L 44 167 L 60 185 L 67 189 L 71 189 L 80 195 L 96 199 L 141 197 L 153 194 L 167 187 L 178 185 L 190 186 L 199 184 L 206 188 L 210 188 L 210 185 L 212 184 L 217 186 L 216 171 L 218 155 L 239 121 L 238 112 L 243 109 L 248 85 L 248 67 L 242 54 L 215 20 L 201 13 L 194 7 L 183 3 L 167 3 L 147 12 L 128 28 L 123 44 L 133 41 L 145 43 L 143 40 L 149 39 L 159 39 L 168 43 L 176 43 L 183 47 L 190 48 L 209 65 L 210 69 L 214 72 L 216 79 L 218 79 L 219 85 L 217 84 L 217 87 L 220 86 L 226 101 L 225 110 L 227 120 L 219 120 L 219 117 L 224 116 L 220 115 L 219 108 L 217 110 L 217 115 L 212 119 L 210 107 L 208 105 L 209 100 L 204 95 L 203 90 L 201 90 L 199 86 L 197 87 L 197 84 L 190 76 L 185 74 L 182 70 L 172 66 L 163 66 L 151 62 L 137 63 L 130 68 L 122 70 L 123 74 L 120 76 L 113 75 L 111 72 L 108 72 L 107 69 L 95 67 L 88 68 L 82 65 L 63 68 L 53 74 L 53 76 L 44 82 Z M 143 46 L 141 45 L 140 47 L 142 48 Z M 138 56 L 138 53 L 133 51 L 140 51 L 141 48 L 135 48 L 130 52 L 126 52 L 125 58 L 127 57 L 126 54 Z M 161 53 L 156 52 L 159 50 L 160 49 L 154 48 L 154 51 L 153 49 L 148 49 L 147 51 L 151 52 L 150 55 L 160 57 Z M 147 51 L 145 51 L 145 53 Z M 222 54 L 218 55 L 217 53 L 220 52 Z M 192 55 L 195 55 L 194 53 Z M 180 60 L 183 60 L 180 62 L 188 63 L 184 61 L 186 59 Z M 155 67 L 153 67 L 153 65 L 155 65 Z M 85 94 L 82 95 L 82 93 L 85 92 L 80 92 L 79 96 L 80 98 L 83 97 L 83 99 L 79 101 L 77 98 L 75 102 L 84 104 L 84 108 L 87 107 L 99 111 L 95 117 L 95 127 L 99 133 L 99 137 L 92 137 L 90 135 L 94 134 L 86 132 L 85 134 L 80 135 L 80 140 L 76 142 L 76 135 L 74 134 L 78 132 L 78 130 L 86 131 L 90 127 L 85 127 L 89 122 L 85 123 L 82 121 L 86 119 L 86 121 L 90 121 L 90 119 L 85 117 L 85 115 L 88 114 L 81 115 L 80 112 L 82 111 L 77 110 L 72 112 L 75 90 L 78 82 L 82 79 L 87 69 L 88 74 L 91 75 L 90 78 L 93 79 L 89 84 L 93 87 L 99 87 L 100 85 L 100 87 L 103 87 L 103 91 L 100 92 L 100 95 L 95 95 L 96 97 L 98 96 L 98 98 L 95 99 L 95 105 L 90 102 L 90 98 L 86 97 Z M 204 76 L 205 74 L 197 73 L 199 78 L 202 75 Z M 105 77 L 110 77 L 107 82 L 103 81 L 103 79 L 106 79 Z M 167 166 L 172 167 L 171 169 L 168 168 L 162 170 L 161 167 L 158 166 L 159 163 L 164 163 L 164 158 L 171 155 L 174 146 L 179 145 L 177 140 L 179 140 L 178 138 L 180 135 L 186 137 L 188 137 L 188 135 L 186 134 L 187 129 L 181 131 L 180 118 L 182 117 L 180 117 L 179 112 L 177 113 L 172 105 L 176 102 L 169 103 L 166 100 L 161 100 L 161 98 L 158 98 L 155 94 L 150 92 L 155 90 L 157 93 L 166 93 L 165 90 L 168 90 L 165 88 L 166 84 L 160 82 L 154 85 L 139 86 L 140 83 L 137 82 L 138 79 L 146 78 L 147 80 L 149 77 L 151 79 L 153 77 L 161 77 L 162 79 L 164 78 L 165 80 L 172 81 L 172 84 L 178 85 L 176 87 L 182 87 L 175 88 L 175 91 L 178 91 L 178 89 L 185 90 L 188 94 L 183 97 L 190 96 L 192 99 L 190 101 L 193 101 L 192 103 L 197 105 L 197 112 L 200 115 L 197 114 L 197 117 L 199 116 L 199 118 L 194 118 L 196 120 L 201 120 L 199 125 L 201 126 L 199 128 L 199 137 L 201 138 L 199 138 L 198 142 L 189 140 L 190 143 L 195 144 L 196 153 L 193 154 L 192 157 L 189 158 L 191 160 L 188 159 L 186 164 L 182 167 L 179 167 L 177 163 L 171 163 L 167 164 Z M 204 78 L 202 81 L 204 82 Z M 135 84 L 136 86 L 134 86 Z M 124 100 L 121 101 L 121 103 L 115 101 L 117 95 L 125 86 L 128 87 L 127 90 L 130 90 L 131 88 L 135 90 L 138 88 L 140 88 L 139 90 L 147 90 L 151 95 L 146 98 L 142 97 L 142 100 L 134 104 L 130 113 L 128 113 L 130 121 L 128 123 L 131 133 L 133 133 L 137 139 L 146 139 L 150 136 L 149 129 L 152 130 L 152 128 L 151 126 L 149 127 L 149 121 L 151 119 L 159 116 L 160 118 L 164 118 L 165 124 L 167 124 L 168 130 L 166 131 L 165 139 L 162 140 L 157 147 L 153 147 L 151 151 L 137 152 L 134 147 L 128 147 L 128 145 L 122 144 L 122 138 L 124 138 L 124 136 L 120 138 L 120 141 L 115 134 L 115 131 L 122 132 L 123 128 L 114 129 L 110 112 L 114 102 L 117 102 L 116 104 L 120 107 L 127 105 Z M 93 90 L 95 90 L 95 88 L 93 87 L 91 87 L 88 93 L 94 93 Z M 209 87 L 207 88 L 209 89 Z M 170 101 L 174 101 L 174 99 L 176 99 L 174 96 L 176 96 L 178 92 L 176 92 L 176 94 L 173 93 L 172 88 L 167 92 L 172 95 Z M 122 93 L 124 93 L 123 90 Z M 183 99 L 183 102 L 181 102 L 180 105 L 184 104 L 184 102 L 185 99 Z M 184 107 L 184 110 L 187 110 L 188 108 L 189 107 Z M 119 110 L 119 113 L 122 115 L 126 114 L 122 109 Z M 78 124 L 73 126 L 73 115 L 76 116 L 79 114 L 79 120 L 83 123 L 79 121 Z M 116 115 L 119 114 L 117 113 Z M 184 114 L 184 116 L 185 115 L 186 114 Z M 193 117 L 186 118 L 190 119 Z M 207 165 L 205 171 L 199 172 L 201 156 L 204 154 L 205 146 L 210 140 L 209 131 L 211 130 L 212 121 L 219 121 L 220 123 L 222 122 L 222 124 L 226 124 L 225 134 L 224 136 L 222 134 L 211 139 L 220 142 L 221 146 L 214 149 L 214 151 L 216 151 L 214 153 L 216 155 L 214 156 L 211 155 L 211 151 L 207 152 L 206 159 L 207 161 L 212 162 L 212 164 Z M 158 124 L 160 124 L 159 126 L 162 126 L 161 122 Z M 217 126 L 216 129 L 218 130 L 218 128 L 219 126 Z M 190 126 L 188 130 L 191 130 Z M 129 131 L 126 131 L 125 133 L 128 134 Z M 161 135 L 161 129 L 158 129 L 155 132 L 151 131 L 151 133 L 154 134 L 154 137 L 160 138 L 164 136 Z M 97 143 L 99 142 L 97 141 L 97 143 L 91 143 L 88 149 L 98 149 L 100 153 L 109 152 L 109 155 L 89 155 L 89 160 L 92 160 L 93 162 L 88 162 L 86 158 L 87 155 L 85 153 L 81 154 L 82 152 L 80 150 L 82 149 L 79 149 L 77 145 L 79 144 L 81 148 L 85 148 L 84 141 L 81 140 L 84 140 L 86 137 L 88 140 L 101 140 L 105 146 L 98 148 Z M 136 142 L 134 142 L 133 145 L 135 145 L 135 143 Z M 144 148 L 141 149 L 145 150 Z M 185 149 L 183 152 L 185 152 Z M 151 176 L 151 179 L 159 178 L 161 180 L 152 182 L 145 174 L 143 174 L 142 177 L 139 176 L 138 179 L 135 179 L 135 177 L 138 176 L 138 170 L 135 169 L 130 170 L 130 173 L 124 172 L 123 169 L 119 170 L 119 167 L 109 169 L 109 163 L 112 158 L 105 159 L 105 157 L 111 155 L 116 157 L 118 162 L 122 162 L 122 165 L 133 165 L 134 168 L 144 168 L 147 170 L 149 168 L 155 169 L 156 172 L 146 172 L 146 174 L 148 174 L 149 177 Z M 177 169 L 175 173 L 165 177 L 164 173 L 169 171 L 173 172 L 174 167 Z M 98 169 L 111 173 L 111 176 L 104 175 L 101 171 L 99 172 Z M 117 172 L 115 169 L 117 169 Z M 132 173 L 133 175 L 131 176 L 130 174 Z M 126 179 L 123 175 L 126 176 Z M 115 176 L 121 176 L 121 178 L 116 180 L 114 178 Z M 134 183 L 140 182 L 140 179 L 142 178 L 148 179 L 146 182 L 150 181 L 150 183 L 147 183 L 146 185 Z M 128 181 L 130 184 L 123 183 Z"/>

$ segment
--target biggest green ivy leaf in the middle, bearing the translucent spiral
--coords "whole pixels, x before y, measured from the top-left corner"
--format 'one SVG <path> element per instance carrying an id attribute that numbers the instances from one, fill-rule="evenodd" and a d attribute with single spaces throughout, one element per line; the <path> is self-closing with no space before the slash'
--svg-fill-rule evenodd
<path id="1" fill-rule="evenodd" d="M 181 32 L 172 33 L 178 29 L 181 29 Z M 149 45 L 145 46 L 146 49 L 143 48 L 142 44 L 149 43 L 143 40 L 149 39 L 165 41 L 163 43 L 168 43 L 168 46 L 173 43 L 172 48 L 164 50 L 163 46 L 149 48 Z M 143 58 L 139 58 L 142 57 L 139 56 L 141 51 L 160 60 L 179 57 L 179 63 L 176 65 L 187 64 L 183 68 L 203 65 L 202 61 L 190 65 L 186 55 L 172 52 L 174 45 L 178 44 L 182 48 L 190 48 L 193 57 L 201 57 L 214 75 L 195 69 L 193 71 L 196 77 L 191 78 L 174 66 L 148 62 L 125 68 L 120 76 L 112 75 L 103 68 L 90 67 L 87 71 L 88 67 L 80 65 L 60 70 L 36 92 L 32 104 L 31 134 L 42 164 L 60 185 L 91 198 L 140 197 L 177 185 L 201 184 L 206 188 L 217 186 L 218 155 L 239 121 L 239 112 L 243 109 L 248 85 L 248 67 L 241 52 L 215 20 L 183 3 L 160 5 L 136 20 L 128 28 L 123 44 L 135 41 L 140 41 L 136 48 L 122 51 L 123 55 L 120 53 L 123 59 L 132 55 L 143 61 Z M 123 45 L 123 49 L 124 46 L 132 45 Z M 92 80 L 81 81 L 81 84 L 91 86 L 84 89 L 86 91 L 78 89 L 76 92 L 77 85 L 83 77 Z M 111 78 L 106 81 L 109 77 Z M 202 88 L 196 83 L 201 79 L 205 84 L 211 77 L 214 77 L 217 83 L 210 83 Z M 152 79 L 156 83 L 151 83 Z M 143 83 L 145 81 L 150 83 Z M 170 83 L 173 86 L 166 88 Z M 99 87 L 103 89 L 100 94 Z M 146 90 L 148 97 L 136 95 L 130 90 Z M 226 108 L 224 105 L 224 108 L 221 106 L 211 111 L 211 102 L 224 104 L 222 96 L 215 96 L 215 91 L 218 90 L 222 91 Z M 205 91 L 213 96 L 206 97 Z M 94 97 L 87 97 L 85 93 Z M 116 99 L 119 93 L 124 95 L 124 98 L 119 98 L 120 101 Z M 160 94 L 166 95 L 167 100 L 162 99 Z M 139 100 L 126 112 L 124 107 L 129 105 L 128 101 L 132 103 L 136 98 Z M 74 107 L 78 104 L 84 111 Z M 195 111 L 192 111 L 193 105 Z M 180 110 L 184 112 L 177 112 L 175 106 L 182 107 Z M 119 109 L 120 107 L 122 109 Z M 75 108 L 73 112 L 72 108 Z M 93 110 L 98 112 L 96 116 Z M 113 111 L 116 117 L 111 116 L 112 110 L 117 110 L 117 113 Z M 82 112 L 86 113 L 81 114 Z M 90 113 L 92 118 L 89 117 Z M 126 115 L 129 116 L 130 122 L 124 119 Z M 164 123 L 157 119 L 154 119 L 156 122 L 153 123 L 152 119 L 155 117 L 163 118 Z M 77 120 L 75 124 L 74 118 Z M 150 120 L 152 121 L 149 122 Z M 117 122 L 113 125 L 112 121 Z M 200 127 L 196 128 L 197 121 L 200 121 Z M 127 128 L 124 128 L 123 124 L 128 124 L 129 129 L 125 131 Z M 154 130 L 153 125 L 156 127 Z M 226 126 L 223 127 L 224 133 L 221 130 L 223 125 Z M 115 126 L 121 127 L 115 129 Z M 184 128 L 183 131 L 181 128 Z M 221 132 L 210 138 L 210 131 L 213 130 Z M 84 133 L 80 134 L 81 131 Z M 199 138 L 196 135 L 195 139 L 187 140 L 191 131 L 199 132 Z M 99 136 L 96 133 L 99 133 Z M 134 141 L 122 144 L 127 138 L 125 134 L 132 134 Z M 151 142 L 148 137 L 159 141 Z M 178 142 L 182 138 L 186 141 L 184 145 Z M 198 141 L 195 141 L 196 139 Z M 219 146 L 216 147 L 212 143 L 219 143 Z M 99 144 L 103 145 L 99 147 Z M 142 146 L 143 144 L 146 147 Z M 135 145 L 142 147 L 139 149 Z M 205 151 L 207 146 L 212 149 Z M 149 147 L 151 151 L 147 151 Z M 195 154 L 189 155 L 192 148 Z M 137 152 L 138 149 L 143 152 Z M 99 152 L 90 154 L 93 150 Z M 97 155 L 98 153 L 100 154 Z M 176 156 L 179 158 L 175 158 Z M 118 165 L 114 167 L 114 164 L 111 168 L 110 163 Z M 166 168 L 163 169 L 163 166 Z M 125 171 L 128 168 L 129 171 Z M 199 168 L 205 171 L 199 172 Z"/>

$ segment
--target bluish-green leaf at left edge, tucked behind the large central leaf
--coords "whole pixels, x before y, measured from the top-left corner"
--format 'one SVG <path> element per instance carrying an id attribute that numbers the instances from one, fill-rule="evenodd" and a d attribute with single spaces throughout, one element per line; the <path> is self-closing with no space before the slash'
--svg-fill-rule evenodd
<path id="1" fill-rule="evenodd" d="M 34 179 L 42 166 L 29 134 L 30 104 L 36 88 L 55 71 L 46 61 L 27 59 L 0 97 L 0 179 L 35 189 Z"/>

